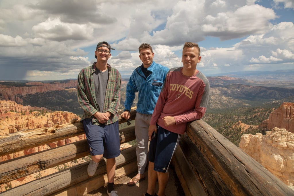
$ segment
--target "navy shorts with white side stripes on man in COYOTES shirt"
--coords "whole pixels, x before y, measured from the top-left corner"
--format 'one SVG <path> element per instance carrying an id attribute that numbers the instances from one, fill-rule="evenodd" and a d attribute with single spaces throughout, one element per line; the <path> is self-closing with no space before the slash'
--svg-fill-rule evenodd
<path id="1" fill-rule="evenodd" d="M 180 141 L 181 134 L 173 133 L 160 126 L 155 137 L 150 141 L 148 159 L 154 163 L 154 170 L 166 173 L 171 158 Z"/>

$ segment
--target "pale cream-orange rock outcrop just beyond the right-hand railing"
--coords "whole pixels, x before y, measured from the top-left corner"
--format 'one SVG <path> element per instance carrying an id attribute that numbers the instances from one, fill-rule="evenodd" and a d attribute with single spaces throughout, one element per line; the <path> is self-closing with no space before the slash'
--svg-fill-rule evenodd
<path id="1" fill-rule="evenodd" d="M 266 135 L 244 134 L 240 148 L 294 190 L 294 134 L 273 128 Z"/>

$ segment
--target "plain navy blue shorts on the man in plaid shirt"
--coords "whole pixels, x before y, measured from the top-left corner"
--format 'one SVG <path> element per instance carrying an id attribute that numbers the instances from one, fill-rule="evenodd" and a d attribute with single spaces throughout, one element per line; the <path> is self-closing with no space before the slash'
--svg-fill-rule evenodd
<path id="1" fill-rule="evenodd" d="M 93 125 L 92 119 L 86 118 L 83 126 L 92 156 L 103 155 L 111 159 L 120 155 L 118 121 L 109 125 Z"/>

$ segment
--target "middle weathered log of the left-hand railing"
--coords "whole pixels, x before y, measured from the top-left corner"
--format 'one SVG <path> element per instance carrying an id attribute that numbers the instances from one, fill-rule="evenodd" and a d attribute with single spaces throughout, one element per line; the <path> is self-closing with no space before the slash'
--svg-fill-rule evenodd
<path id="1" fill-rule="evenodd" d="M 120 131 L 121 143 L 135 140 L 134 126 Z M 3 161 L 0 164 L 0 184 L 45 170 L 71 160 L 89 155 L 86 140 L 77 141 L 57 148 L 44 150 L 27 156 Z"/>

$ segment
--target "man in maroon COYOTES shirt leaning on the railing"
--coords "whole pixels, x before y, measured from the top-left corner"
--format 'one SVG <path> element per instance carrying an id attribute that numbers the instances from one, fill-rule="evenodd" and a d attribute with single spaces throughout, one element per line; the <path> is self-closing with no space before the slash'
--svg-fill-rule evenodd
<path id="1" fill-rule="evenodd" d="M 196 69 L 201 61 L 197 43 L 186 42 L 183 47 L 183 67 L 172 68 L 166 75 L 163 88 L 151 118 L 148 136 L 148 189 L 145 196 L 165 195 L 168 167 L 186 124 L 203 117 L 209 99 L 209 82 Z M 183 103 L 185 103 L 183 107 Z"/>

